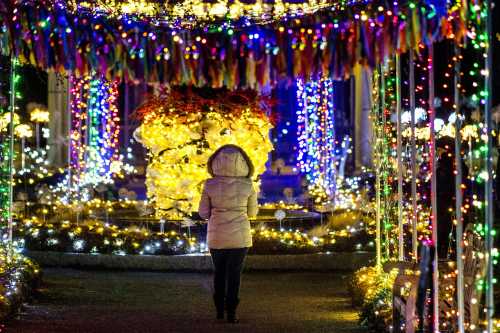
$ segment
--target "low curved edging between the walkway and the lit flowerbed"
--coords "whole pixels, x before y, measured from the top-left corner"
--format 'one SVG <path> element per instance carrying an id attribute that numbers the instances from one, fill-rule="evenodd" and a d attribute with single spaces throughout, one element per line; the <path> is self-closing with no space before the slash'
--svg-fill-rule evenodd
<path id="1" fill-rule="evenodd" d="M 193 272 L 212 270 L 208 254 L 156 256 L 25 251 L 25 255 L 44 267 Z M 355 271 L 368 265 L 373 259 L 372 252 L 249 255 L 246 258 L 245 269 L 247 271 Z"/>

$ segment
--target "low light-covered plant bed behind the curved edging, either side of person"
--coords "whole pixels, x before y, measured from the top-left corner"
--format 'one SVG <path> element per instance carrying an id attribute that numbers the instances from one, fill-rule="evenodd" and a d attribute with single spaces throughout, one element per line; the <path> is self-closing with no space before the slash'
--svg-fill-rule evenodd
<path id="1" fill-rule="evenodd" d="M 193 227 L 195 229 L 195 227 Z M 44 223 L 24 221 L 16 229 L 16 238 L 34 251 L 57 251 L 95 254 L 178 255 L 206 252 L 204 239 L 173 230 L 164 233 L 140 228 L 120 229 L 99 221 L 79 225 L 69 222 Z M 250 254 L 306 254 L 372 250 L 364 231 L 330 231 L 323 237 L 309 236 L 299 230 L 252 229 Z"/>

